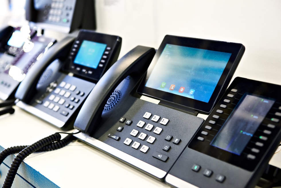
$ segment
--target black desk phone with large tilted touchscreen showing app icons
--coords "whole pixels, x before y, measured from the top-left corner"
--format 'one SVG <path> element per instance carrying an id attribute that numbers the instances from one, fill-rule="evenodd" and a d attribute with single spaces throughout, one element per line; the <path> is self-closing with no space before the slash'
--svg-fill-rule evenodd
<path id="1" fill-rule="evenodd" d="M 163 181 L 204 121 L 192 114 L 210 113 L 244 49 L 238 43 L 166 35 L 140 83 L 140 76 L 114 72 L 114 66 L 102 76 L 74 122 L 82 132 L 75 136 Z M 160 105 L 141 95 L 161 100 Z"/>

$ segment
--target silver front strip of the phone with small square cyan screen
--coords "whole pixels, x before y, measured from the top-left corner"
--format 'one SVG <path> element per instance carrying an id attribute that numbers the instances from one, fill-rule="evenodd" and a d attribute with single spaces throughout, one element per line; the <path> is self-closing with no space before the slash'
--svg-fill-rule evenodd
<path id="1" fill-rule="evenodd" d="M 31 105 L 28 105 L 22 101 L 18 101 L 16 103 L 16 105 L 19 107 L 19 108 L 22 108 L 24 110 L 26 110 L 27 112 L 30 112 L 31 114 L 34 114 L 35 116 L 38 116 L 39 118 L 61 128 L 65 125 L 65 122 L 57 119 L 57 118 L 54 118 L 53 116 L 45 113 L 45 112 L 42 112 L 41 110 L 38 110 L 37 108 L 31 106 Z"/>

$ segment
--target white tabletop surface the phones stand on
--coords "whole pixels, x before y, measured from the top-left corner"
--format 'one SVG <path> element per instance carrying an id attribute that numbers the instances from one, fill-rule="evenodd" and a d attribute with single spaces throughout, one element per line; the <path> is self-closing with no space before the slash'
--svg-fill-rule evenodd
<path id="1" fill-rule="evenodd" d="M 0 116 L 0 130 L 0 145 L 4 148 L 30 145 L 60 132 L 18 107 L 14 114 Z M 281 168 L 280 159 L 281 151 L 270 164 Z M 31 154 L 24 162 L 59 187 L 169 187 L 80 141 L 55 151 Z"/>

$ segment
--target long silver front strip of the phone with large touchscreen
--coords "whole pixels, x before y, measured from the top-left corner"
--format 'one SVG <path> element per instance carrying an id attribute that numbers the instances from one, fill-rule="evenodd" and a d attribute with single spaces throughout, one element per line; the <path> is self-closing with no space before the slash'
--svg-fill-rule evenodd
<path id="1" fill-rule="evenodd" d="M 77 132 L 77 131 L 75 131 Z M 161 170 L 159 168 L 156 168 L 155 166 L 152 166 L 151 164 L 148 164 L 146 162 L 143 162 L 142 160 L 139 160 L 133 156 L 130 156 L 129 154 L 124 153 L 123 151 L 120 151 L 110 145 L 107 145 L 106 143 L 103 143 L 102 141 L 99 141 L 93 137 L 90 137 L 89 135 L 86 135 L 84 133 L 78 133 L 74 135 L 78 139 L 85 141 L 89 143 L 90 145 L 93 145 L 94 147 L 97 147 L 98 149 L 101 149 L 102 151 L 105 151 L 106 153 L 115 156 L 116 158 L 119 158 L 120 160 L 129 163 L 130 165 L 144 170 L 145 172 L 159 178 L 163 179 L 167 172 L 164 170 Z"/>

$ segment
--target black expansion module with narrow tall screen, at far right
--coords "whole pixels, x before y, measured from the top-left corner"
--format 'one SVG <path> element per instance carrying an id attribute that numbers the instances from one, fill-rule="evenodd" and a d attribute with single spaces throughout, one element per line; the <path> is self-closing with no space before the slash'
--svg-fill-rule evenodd
<path id="1" fill-rule="evenodd" d="M 237 77 L 165 181 L 255 187 L 281 141 L 281 86 Z"/>

